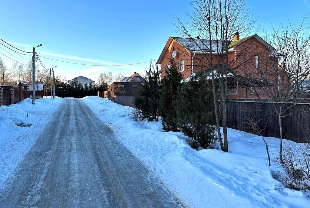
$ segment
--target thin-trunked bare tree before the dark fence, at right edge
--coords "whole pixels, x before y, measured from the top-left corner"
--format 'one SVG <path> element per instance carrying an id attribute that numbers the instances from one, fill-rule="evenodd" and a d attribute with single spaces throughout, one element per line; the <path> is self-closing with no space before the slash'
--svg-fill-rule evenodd
<path id="1" fill-rule="evenodd" d="M 282 119 L 294 113 L 293 110 L 300 102 L 305 102 L 310 92 L 310 34 L 306 31 L 306 15 L 300 25 L 290 24 L 288 27 L 274 28 L 269 42 L 277 47 L 278 53 L 269 56 L 274 59 L 260 66 L 260 73 L 268 84 L 260 88 L 261 94 L 273 104 L 278 117 L 280 132 L 280 161 L 282 159 Z M 270 71 L 273 69 L 273 71 Z M 259 88 L 259 87 L 258 87 Z"/>

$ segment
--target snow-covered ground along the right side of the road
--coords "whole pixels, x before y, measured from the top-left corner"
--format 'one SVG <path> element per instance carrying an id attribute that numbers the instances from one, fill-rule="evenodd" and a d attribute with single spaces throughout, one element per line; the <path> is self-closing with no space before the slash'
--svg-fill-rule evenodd
<path id="1" fill-rule="evenodd" d="M 268 158 L 262 139 L 228 129 L 229 153 L 194 150 L 178 132 L 163 132 L 161 122 L 134 121 L 132 108 L 106 98 L 82 98 L 116 137 L 155 172 L 166 188 L 190 207 L 310 207 L 300 191 L 276 189 L 271 171 L 280 170 Z M 271 157 L 280 140 L 265 138 Z M 284 145 L 289 141 L 284 140 Z M 290 141 L 291 145 L 294 142 Z"/>

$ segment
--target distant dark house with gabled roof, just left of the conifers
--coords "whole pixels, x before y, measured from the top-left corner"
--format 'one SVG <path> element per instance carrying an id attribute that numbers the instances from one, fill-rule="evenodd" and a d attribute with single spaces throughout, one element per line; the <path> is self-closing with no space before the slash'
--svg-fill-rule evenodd
<path id="1" fill-rule="evenodd" d="M 136 96 L 144 82 L 147 82 L 147 80 L 135 72 L 131 76 L 126 76 L 122 81 L 113 82 L 109 86 L 108 91 L 114 92 L 114 95 L 119 96 Z"/>

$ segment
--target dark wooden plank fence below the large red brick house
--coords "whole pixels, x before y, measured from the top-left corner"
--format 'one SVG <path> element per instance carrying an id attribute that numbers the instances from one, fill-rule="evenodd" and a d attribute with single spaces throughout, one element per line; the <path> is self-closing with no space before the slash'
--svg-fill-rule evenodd
<path id="1" fill-rule="evenodd" d="M 279 105 L 279 104 L 276 104 Z M 295 142 L 309 142 L 310 138 L 310 104 L 287 104 L 287 111 L 281 119 L 283 138 Z M 258 127 L 262 129 L 265 137 L 280 138 L 279 118 L 273 103 L 255 101 L 228 101 L 227 127 L 250 132 L 249 115 L 259 121 Z"/>

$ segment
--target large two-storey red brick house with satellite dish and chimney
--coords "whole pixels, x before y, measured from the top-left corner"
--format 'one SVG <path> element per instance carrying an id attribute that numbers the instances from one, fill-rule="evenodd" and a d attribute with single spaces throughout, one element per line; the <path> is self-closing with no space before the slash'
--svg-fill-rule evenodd
<path id="1" fill-rule="evenodd" d="M 170 59 L 175 61 L 184 79 L 198 72 L 210 74 L 212 68 L 215 70 L 214 74 L 217 74 L 216 51 L 221 51 L 222 45 L 223 51 L 228 51 L 228 66 L 225 67 L 228 70 L 228 80 L 233 83 L 228 84 L 229 98 L 266 98 L 262 87 L 257 86 L 266 86 L 266 83 L 274 85 L 277 80 L 275 74 L 279 74 L 282 80 L 285 79 L 285 73 L 277 66 L 281 54 L 257 34 L 240 39 L 239 33 L 233 35 L 228 46 L 211 40 L 211 49 L 210 40 L 207 39 L 169 37 L 157 60 L 157 65 L 161 68 L 161 78 L 165 76 L 166 68 L 170 67 Z M 224 55 L 226 57 L 226 54 Z"/>

